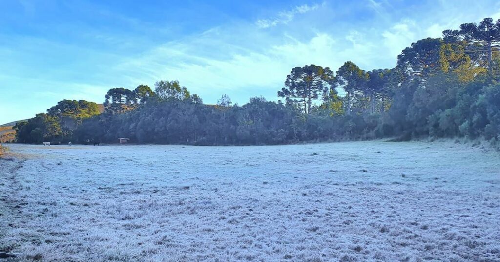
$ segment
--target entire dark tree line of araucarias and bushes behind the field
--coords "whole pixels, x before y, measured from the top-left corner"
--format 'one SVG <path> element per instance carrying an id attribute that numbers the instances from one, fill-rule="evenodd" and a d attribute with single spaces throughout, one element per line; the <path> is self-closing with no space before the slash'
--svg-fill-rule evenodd
<path id="1" fill-rule="evenodd" d="M 285 144 L 395 137 L 500 140 L 500 20 L 486 18 L 445 30 L 401 51 L 391 69 L 365 71 L 346 61 L 338 70 L 305 65 L 290 71 L 278 102 L 223 95 L 205 105 L 178 81 L 134 90 L 110 89 L 104 111 L 62 100 L 18 123 L 20 143 L 42 141 L 193 145 Z M 340 96 L 342 90 L 345 96 Z"/>

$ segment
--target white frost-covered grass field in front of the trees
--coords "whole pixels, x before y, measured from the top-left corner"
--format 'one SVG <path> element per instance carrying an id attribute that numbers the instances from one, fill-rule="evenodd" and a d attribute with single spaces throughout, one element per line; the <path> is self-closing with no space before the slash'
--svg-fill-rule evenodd
<path id="1" fill-rule="evenodd" d="M 500 157 L 480 147 L 10 148 L 13 261 L 500 260 Z"/>

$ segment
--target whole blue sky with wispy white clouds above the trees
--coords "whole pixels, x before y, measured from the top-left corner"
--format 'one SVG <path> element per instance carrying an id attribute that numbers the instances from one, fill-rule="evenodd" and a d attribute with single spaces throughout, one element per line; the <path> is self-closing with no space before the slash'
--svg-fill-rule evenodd
<path id="1" fill-rule="evenodd" d="M 411 42 L 500 18 L 488 0 L 0 1 L 0 124 L 158 80 L 277 100 L 293 67 L 392 68 Z"/>

